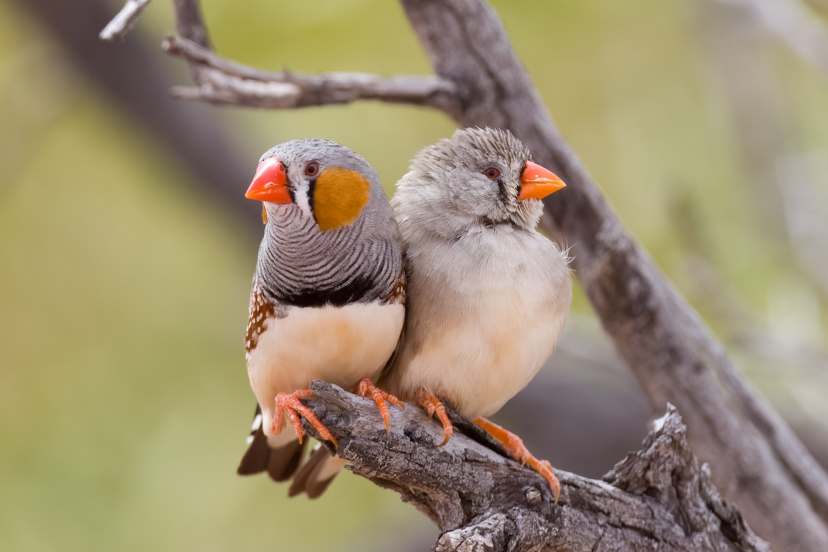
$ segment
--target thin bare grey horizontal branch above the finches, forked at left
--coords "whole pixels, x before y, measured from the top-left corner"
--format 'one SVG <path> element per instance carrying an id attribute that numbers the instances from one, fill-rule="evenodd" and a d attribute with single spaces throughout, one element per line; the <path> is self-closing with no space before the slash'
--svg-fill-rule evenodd
<path id="1" fill-rule="evenodd" d="M 365 73 L 274 73 L 225 60 L 212 50 L 176 36 L 163 42 L 164 51 L 198 68 L 197 87 L 176 87 L 176 98 L 248 108 L 291 109 L 358 99 L 413 103 L 450 110 L 456 107 L 454 84 L 434 76 L 380 77 Z"/>

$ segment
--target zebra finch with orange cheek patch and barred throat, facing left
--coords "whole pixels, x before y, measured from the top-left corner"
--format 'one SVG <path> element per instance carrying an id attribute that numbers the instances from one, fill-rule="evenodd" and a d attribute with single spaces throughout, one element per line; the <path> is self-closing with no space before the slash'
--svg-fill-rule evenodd
<path id="1" fill-rule="evenodd" d="M 301 402 L 312 380 L 371 396 L 387 429 L 388 403 L 402 406 L 373 384 L 405 316 L 402 247 L 376 170 L 336 142 L 272 147 L 245 196 L 262 201 L 265 227 L 244 341 L 257 407 L 237 473 L 286 481 L 304 453 L 301 418 L 337 444 Z"/>

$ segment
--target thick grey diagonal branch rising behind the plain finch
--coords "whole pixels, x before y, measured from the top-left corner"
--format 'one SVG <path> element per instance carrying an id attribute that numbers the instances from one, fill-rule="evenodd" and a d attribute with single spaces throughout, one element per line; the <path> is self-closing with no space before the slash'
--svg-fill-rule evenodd
<path id="1" fill-rule="evenodd" d="M 566 181 L 542 228 L 572 246 L 575 275 L 651 403 L 681 410 L 693 449 L 771 545 L 828 550 L 826 473 L 623 228 L 557 132 L 497 15 L 478 0 L 402 4 L 436 73 L 460 91 L 460 124 L 509 128 Z"/>

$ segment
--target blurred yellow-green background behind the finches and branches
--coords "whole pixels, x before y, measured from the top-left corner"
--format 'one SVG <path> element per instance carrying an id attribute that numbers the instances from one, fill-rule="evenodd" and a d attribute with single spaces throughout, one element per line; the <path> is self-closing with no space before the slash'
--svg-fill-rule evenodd
<path id="1" fill-rule="evenodd" d="M 73 8 L 77 25 L 93 3 Z M 198 158 L 107 92 L 96 71 L 112 69 L 82 67 L 47 5 L 0 4 L 0 550 L 388 550 L 392 538 L 426 550 L 436 528 L 350 474 L 315 502 L 235 475 L 253 411 L 242 338 L 258 207 L 229 204 Z M 120 7 L 106 5 L 110 17 Z M 493 5 L 633 235 L 825 458 L 826 74 L 712 0 Z M 823 26 L 825 8 L 811 4 Z M 205 0 L 203 12 L 219 54 L 262 69 L 429 72 L 396 2 Z M 173 29 L 156 0 L 128 36 L 160 68 L 142 79 L 189 83 L 156 47 Z M 124 60 L 119 70 L 141 70 Z M 246 163 L 225 187 L 239 198 L 262 151 L 307 136 L 359 151 L 392 194 L 413 154 L 454 128 L 380 103 L 157 102 L 227 137 L 209 156 Z M 602 339 L 579 295 L 561 342 L 575 362 L 544 377 L 586 401 L 596 424 L 627 405 L 643 420 L 612 353 L 594 358 Z M 575 434 L 575 449 L 595 446 L 579 420 L 552 425 Z M 628 432 L 622 450 L 643 421 Z M 584 473 L 577 450 L 550 457 Z"/>

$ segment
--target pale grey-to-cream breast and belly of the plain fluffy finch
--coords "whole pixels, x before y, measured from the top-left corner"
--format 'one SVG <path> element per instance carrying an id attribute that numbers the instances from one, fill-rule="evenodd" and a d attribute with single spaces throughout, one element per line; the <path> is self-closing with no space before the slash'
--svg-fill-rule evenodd
<path id="1" fill-rule="evenodd" d="M 408 316 L 429 323 L 406 329 L 388 391 L 410 399 L 423 387 L 462 415 L 492 415 L 555 349 L 571 301 L 566 255 L 509 228 L 408 254 Z"/>

